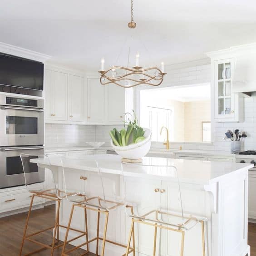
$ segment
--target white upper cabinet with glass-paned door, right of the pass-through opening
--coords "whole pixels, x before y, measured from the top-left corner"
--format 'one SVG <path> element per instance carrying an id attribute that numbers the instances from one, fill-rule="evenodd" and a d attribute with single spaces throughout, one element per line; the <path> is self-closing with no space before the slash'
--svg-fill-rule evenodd
<path id="1" fill-rule="evenodd" d="M 235 58 L 232 54 L 225 56 L 214 53 L 211 57 L 212 66 L 212 108 L 215 122 L 243 122 L 244 98 L 233 93 L 233 77 Z M 226 58 L 230 56 L 230 58 Z"/>

